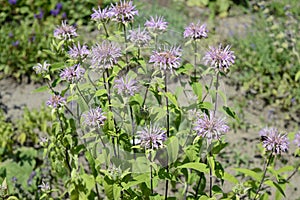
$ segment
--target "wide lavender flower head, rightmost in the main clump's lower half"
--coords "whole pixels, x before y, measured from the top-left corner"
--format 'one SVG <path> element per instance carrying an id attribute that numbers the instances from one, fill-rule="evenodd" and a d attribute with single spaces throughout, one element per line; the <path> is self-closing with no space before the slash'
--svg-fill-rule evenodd
<path id="1" fill-rule="evenodd" d="M 219 140 L 221 135 L 229 131 L 229 126 L 226 125 L 224 119 L 216 118 L 212 112 L 209 115 L 206 113 L 198 114 L 194 130 L 198 136 L 207 138 L 209 141 L 212 139 Z"/>

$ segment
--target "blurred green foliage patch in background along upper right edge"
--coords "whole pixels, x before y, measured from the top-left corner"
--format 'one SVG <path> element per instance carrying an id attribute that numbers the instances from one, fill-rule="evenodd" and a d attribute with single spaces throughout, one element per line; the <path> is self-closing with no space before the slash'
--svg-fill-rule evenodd
<path id="1" fill-rule="evenodd" d="M 263 5 L 262 14 L 246 37 L 231 40 L 240 52 L 231 80 L 248 98 L 258 97 L 267 105 L 297 112 L 300 102 L 299 27 L 291 10 L 277 17 L 277 12 L 270 10 L 272 5 Z"/>

